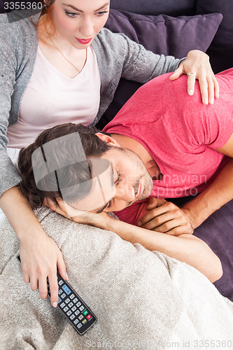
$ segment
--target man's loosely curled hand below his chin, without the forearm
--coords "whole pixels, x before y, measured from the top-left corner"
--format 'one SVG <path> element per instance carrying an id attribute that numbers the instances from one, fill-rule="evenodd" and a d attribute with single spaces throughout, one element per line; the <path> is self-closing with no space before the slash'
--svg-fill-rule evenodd
<path id="1" fill-rule="evenodd" d="M 191 216 L 185 209 L 175 204 L 151 197 L 147 207 L 148 214 L 142 216 L 138 225 L 147 230 L 179 236 L 193 233 Z"/>

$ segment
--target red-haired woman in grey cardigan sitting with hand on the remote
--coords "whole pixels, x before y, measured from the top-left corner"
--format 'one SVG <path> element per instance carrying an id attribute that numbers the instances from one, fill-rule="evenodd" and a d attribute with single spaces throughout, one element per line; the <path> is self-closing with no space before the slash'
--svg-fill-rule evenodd
<path id="1" fill-rule="evenodd" d="M 101 30 L 108 10 L 109 1 L 104 0 L 56 0 L 46 3 L 41 16 L 10 24 L 1 21 L 0 206 L 20 239 L 24 281 L 39 288 L 44 298 L 48 277 L 54 306 L 57 267 L 64 278 L 66 267 L 55 242 L 14 187 L 20 177 L 6 153 L 8 140 L 13 148 L 8 152 L 15 153 L 46 127 L 68 121 L 96 124 L 121 76 L 146 83 L 177 69 L 172 79 L 192 73 L 190 94 L 196 76 L 204 103 L 218 97 L 206 55 L 192 51 L 185 60 L 154 55 L 121 34 Z"/>

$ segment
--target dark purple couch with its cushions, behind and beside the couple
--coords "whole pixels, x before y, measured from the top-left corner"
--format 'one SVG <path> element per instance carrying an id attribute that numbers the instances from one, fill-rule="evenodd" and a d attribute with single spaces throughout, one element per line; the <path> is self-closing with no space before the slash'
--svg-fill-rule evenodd
<path id="1" fill-rule="evenodd" d="M 0 12 L 4 12 L 3 7 L 0 0 Z M 213 71 L 218 73 L 233 66 L 232 18 L 231 0 L 111 0 L 106 27 L 127 34 L 159 54 L 181 58 L 189 50 L 203 50 L 210 57 Z M 121 79 L 113 102 L 97 127 L 104 127 L 139 86 Z M 232 205 L 226 204 L 199 226 L 195 235 L 204 239 L 222 261 L 223 277 L 216 286 L 233 301 L 232 218 Z"/>

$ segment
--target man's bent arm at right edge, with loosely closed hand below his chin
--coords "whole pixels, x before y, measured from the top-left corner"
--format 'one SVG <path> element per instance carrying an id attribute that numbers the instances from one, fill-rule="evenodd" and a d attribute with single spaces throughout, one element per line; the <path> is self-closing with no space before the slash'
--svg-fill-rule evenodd
<path id="1" fill-rule="evenodd" d="M 148 230 L 157 230 L 168 235 L 192 234 L 216 210 L 233 198 L 233 134 L 225 146 L 216 151 L 230 157 L 227 165 L 211 185 L 192 201 L 178 208 L 165 200 L 150 201 L 148 213 L 138 223 Z M 164 202 L 164 203 L 163 203 Z"/>

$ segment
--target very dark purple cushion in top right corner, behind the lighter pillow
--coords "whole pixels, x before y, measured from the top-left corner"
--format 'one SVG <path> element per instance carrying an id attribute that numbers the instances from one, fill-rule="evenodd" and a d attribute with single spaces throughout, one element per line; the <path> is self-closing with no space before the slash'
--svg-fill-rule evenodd
<path id="1" fill-rule="evenodd" d="M 213 71 L 218 73 L 233 66 L 232 0 L 197 0 L 197 13 L 214 12 L 223 14 L 223 22 L 206 53 L 211 57 Z"/>

